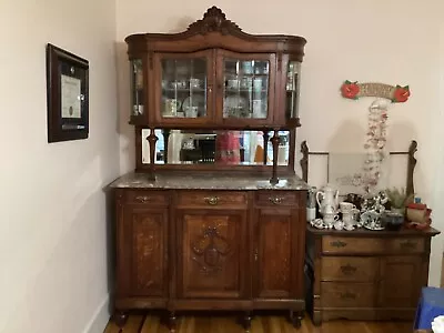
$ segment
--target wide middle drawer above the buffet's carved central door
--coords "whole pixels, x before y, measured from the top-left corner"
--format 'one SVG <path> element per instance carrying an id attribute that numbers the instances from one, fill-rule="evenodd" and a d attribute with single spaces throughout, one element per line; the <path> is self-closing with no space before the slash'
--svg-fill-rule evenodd
<path id="1" fill-rule="evenodd" d="M 179 192 L 180 208 L 245 208 L 245 192 L 198 191 Z"/>

